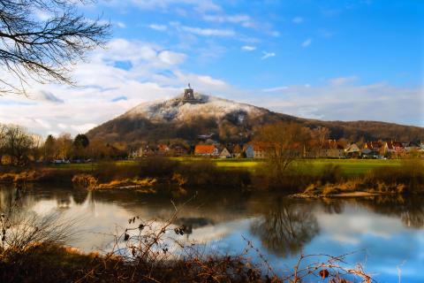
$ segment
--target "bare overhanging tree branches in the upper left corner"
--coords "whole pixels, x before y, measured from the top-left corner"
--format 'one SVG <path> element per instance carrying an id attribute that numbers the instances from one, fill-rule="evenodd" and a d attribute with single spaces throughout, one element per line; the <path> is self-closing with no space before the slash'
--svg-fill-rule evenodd
<path id="1" fill-rule="evenodd" d="M 31 80 L 73 84 L 71 66 L 102 46 L 110 30 L 79 14 L 76 2 L 91 1 L 0 0 L 0 63 L 11 75 L 0 78 L 0 94 L 25 95 Z"/>

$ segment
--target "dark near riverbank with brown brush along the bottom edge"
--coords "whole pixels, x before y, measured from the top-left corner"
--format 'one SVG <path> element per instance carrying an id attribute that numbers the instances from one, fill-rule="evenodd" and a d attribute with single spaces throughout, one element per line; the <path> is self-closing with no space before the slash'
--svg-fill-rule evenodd
<path id="1" fill-rule="evenodd" d="M 1 249 L 0 249 L 1 250 Z M 164 253 L 164 251 L 162 251 Z M 185 258 L 128 262 L 122 256 L 81 253 L 57 245 L 34 245 L 23 252 L 0 256 L 2 282 L 267 282 L 290 283 L 305 278 L 330 282 L 371 282 L 360 266 L 343 267 L 345 257 L 329 256 L 327 262 L 296 266 L 292 274 L 277 276 L 269 266 L 263 271 L 245 256 L 186 256 Z M 338 265 L 340 264 L 340 265 Z M 297 270 L 299 268 L 299 270 Z M 338 273 L 339 272 L 339 273 Z M 347 278 L 347 279 L 346 279 Z"/>

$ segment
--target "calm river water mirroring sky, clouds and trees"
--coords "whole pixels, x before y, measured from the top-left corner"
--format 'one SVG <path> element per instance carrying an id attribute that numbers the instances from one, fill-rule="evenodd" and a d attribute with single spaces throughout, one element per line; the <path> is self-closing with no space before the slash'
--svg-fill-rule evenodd
<path id="1" fill-rule="evenodd" d="M 12 195 L 11 187 L 0 187 L 2 207 Z M 178 206 L 188 198 L 50 186 L 28 190 L 22 208 L 78 219 L 79 237 L 71 244 L 90 251 L 107 249 L 110 234 L 122 231 L 129 218 L 169 218 L 174 212 L 170 199 Z M 221 254 L 240 253 L 245 237 L 280 273 L 291 270 L 300 254 L 353 253 L 347 261 L 363 264 L 378 282 L 399 282 L 399 275 L 401 282 L 424 282 L 423 201 L 418 196 L 293 200 L 216 190 L 187 203 L 176 225 L 189 227 L 187 241 Z"/>

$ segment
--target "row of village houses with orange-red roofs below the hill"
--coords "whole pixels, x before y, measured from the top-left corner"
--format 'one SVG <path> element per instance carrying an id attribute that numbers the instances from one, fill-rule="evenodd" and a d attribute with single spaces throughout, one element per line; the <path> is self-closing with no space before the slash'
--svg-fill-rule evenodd
<path id="1" fill-rule="evenodd" d="M 196 144 L 187 148 L 181 144 L 166 145 L 158 144 L 155 147 L 145 146 L 133 151 L 131 157 L 172 156 L 182 157 L 193 155 L 196 157 L 221 157 L 221 158 L 267 158 L 269 144 L 266 142 L 248 142 L 244 145 L 227 144 L 217 142 L 212 144 Z M 356 143 L 343 145 L 336 140 L 327 140 L 321 145 L 307 148 L 300 144 L 292 144 L 286 150 L 295 157 L 305 158 L 383 158 L 399 157 L 404 154 L 418 152 L 424 154 L 424 144 L 420 142 L 366 142 L 363 147 Z"/>

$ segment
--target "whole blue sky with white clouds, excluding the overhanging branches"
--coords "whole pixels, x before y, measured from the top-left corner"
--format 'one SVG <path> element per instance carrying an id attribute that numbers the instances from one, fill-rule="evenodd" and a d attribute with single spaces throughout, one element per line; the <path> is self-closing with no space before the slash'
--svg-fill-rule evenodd
<path id="1" fill-rule="evenodd" d="M 74 67 L 77 87 L 0 96 L 0 123 L 83 133 L 190 82 L 305 118 L 424 126 L 422 1 L 98 0 L 79 9 L 111 22 L 106 49 Z"/>

